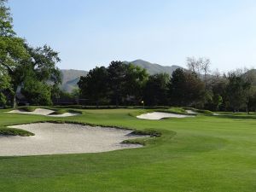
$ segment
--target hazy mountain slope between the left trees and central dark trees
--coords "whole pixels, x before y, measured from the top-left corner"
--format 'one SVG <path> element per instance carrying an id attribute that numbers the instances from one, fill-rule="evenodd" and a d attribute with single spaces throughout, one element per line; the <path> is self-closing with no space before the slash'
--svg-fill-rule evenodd
<path id="1" fill-rule="evenodd" d="M 61 90 L 71 92 L 74 88 L 78 87 L 77 83 L 79 82 L 80 76 L 84 76 L 87 73 L 83 70 L 61 69 Z"/>

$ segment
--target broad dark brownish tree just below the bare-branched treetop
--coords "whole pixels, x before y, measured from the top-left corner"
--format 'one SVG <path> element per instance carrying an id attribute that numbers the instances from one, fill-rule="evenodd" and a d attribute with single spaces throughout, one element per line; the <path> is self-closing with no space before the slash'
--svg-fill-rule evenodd
<path id="1" fill-rule="evenodd" d="M 168 84 L 170 103 L 177 106 L 201 106 L 204 102 L 205 86 L 195 73 L 178 68 L 172 73 Z"/>

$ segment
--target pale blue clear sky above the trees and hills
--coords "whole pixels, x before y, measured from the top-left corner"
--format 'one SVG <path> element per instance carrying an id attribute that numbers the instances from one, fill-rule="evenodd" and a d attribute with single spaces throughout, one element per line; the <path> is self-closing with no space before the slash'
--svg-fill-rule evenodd
<path id="1" fill-rule="evenodd" d="M 9 0 L 15 32 L 60 52 L 60 68 L 89 70 L 113 60 L 212 69 L 256 67 L 255 0 Z"/>

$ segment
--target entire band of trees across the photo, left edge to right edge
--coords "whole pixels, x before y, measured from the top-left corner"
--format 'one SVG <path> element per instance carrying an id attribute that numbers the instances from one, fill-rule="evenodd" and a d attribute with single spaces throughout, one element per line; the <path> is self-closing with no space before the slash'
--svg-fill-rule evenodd
<path id="1" fill-rule="evenodd" d="M 58 53 L 49 46 L 32 47 L 13 29 L 6 0 L 0 0 L 0 107 L 15 108 L 20 90 L 32 105 L 51 105 L 68 97 L 60 90 Z M 79 80 L 79 97 L 88 105 L 187 106 L 210 110 L 255 111 L 255 70 L 210 73 L 206 58 L 188 58 L 188 69 L 149 75 L 141 67 L 112 61 Z"/>

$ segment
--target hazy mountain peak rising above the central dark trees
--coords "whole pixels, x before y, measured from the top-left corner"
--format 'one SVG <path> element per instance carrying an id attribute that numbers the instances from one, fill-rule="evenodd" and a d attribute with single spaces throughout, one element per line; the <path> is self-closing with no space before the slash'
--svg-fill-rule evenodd
<path id="1" fill-rule="evenodd" d="M 182 68 L 179 66 L 161 66 L 156 63 L 151 63 L 148 61 L 143 60 L 135 60 L 135 61 L 124 61 L 126 64 L 132 63 L 135 66 L 142 67 L 147 69 L 149 74 L 155 74 L 155 73 L 168 73 L 169 75 L 172 75 L 172 72 L 174 72 L 177 68 Z"/>

